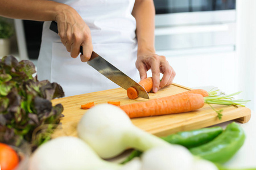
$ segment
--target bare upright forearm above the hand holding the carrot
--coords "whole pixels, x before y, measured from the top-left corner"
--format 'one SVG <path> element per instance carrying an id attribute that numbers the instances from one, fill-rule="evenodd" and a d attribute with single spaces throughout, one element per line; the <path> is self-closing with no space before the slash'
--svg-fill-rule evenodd
<path id="1" fill-rule="evenodd" d="M 132 12 L 137 22 L 138 54 L 155 53 L 155 7 L 152 0 L 136 0 Z"/>

